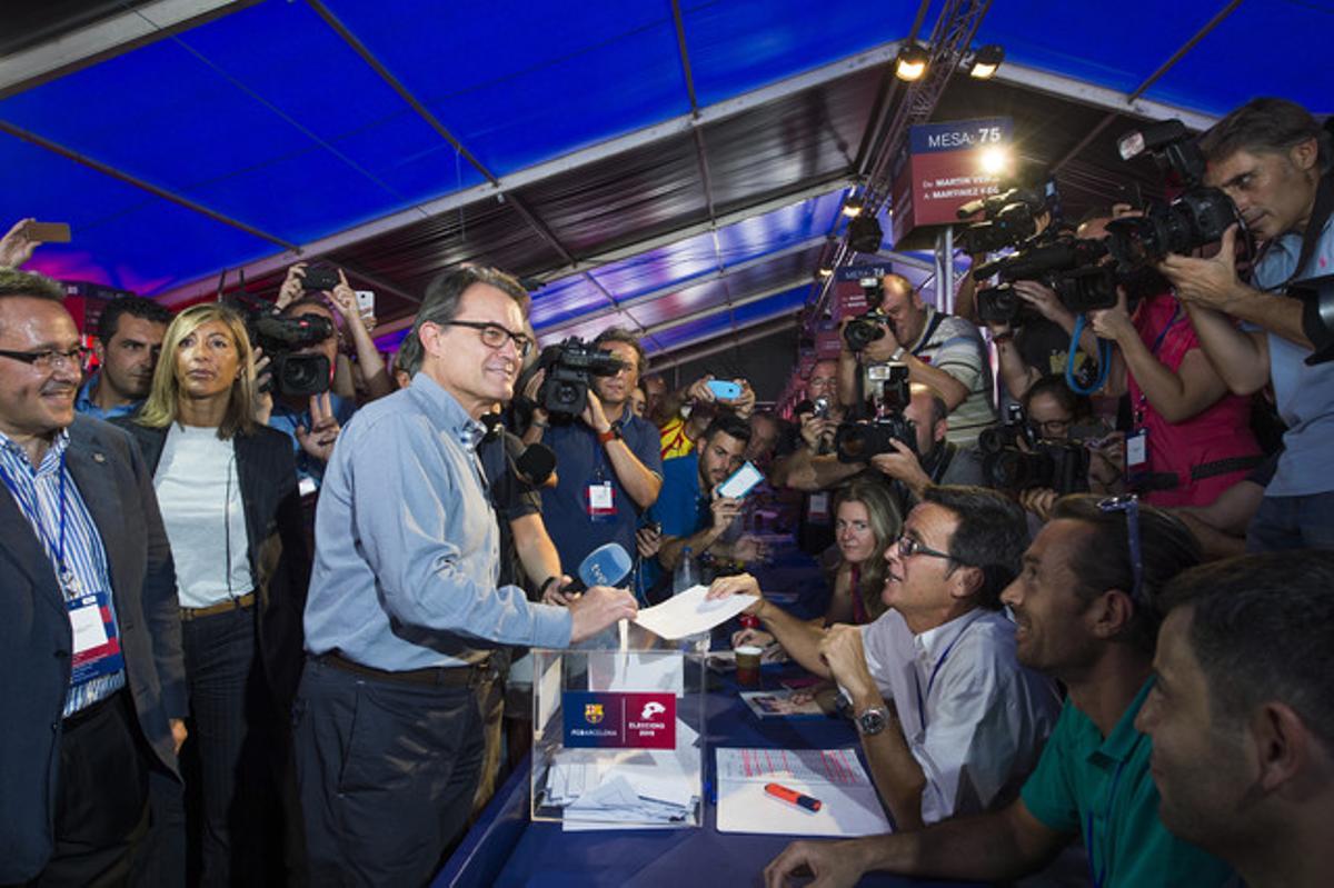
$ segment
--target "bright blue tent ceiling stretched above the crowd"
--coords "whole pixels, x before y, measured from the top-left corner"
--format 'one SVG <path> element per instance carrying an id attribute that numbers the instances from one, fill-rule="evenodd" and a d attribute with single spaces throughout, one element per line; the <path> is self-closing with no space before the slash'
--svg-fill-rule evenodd
<path id="1" fill-rule="evenodd" d="M 995 0 L 976 43 L 1126 93 L 1225 5 Z M 136 11 L 151 20 L 153 7 Z M 288 247 L 332 237 L 313 252 L 379 291 L 390 321 L 442 268 L 483 261 L 547 281 L 534 300 L 544 336 L 615 321 L 660 352 L 734 332 L 810 295 L 918 4 L 679 11 L 683 44 L 668 0 L 237 4 L 47 83 L 5 84 L 4 216 L 71 223 L 75 241 L 43 248 L 39 268 L 168 301 L 247 265 L 249 289 L 272 289 Z M 1331 24 L 1323 0 L 1246 0 L 1145 99 L 1219 115 L 1274 93 L 1329 112 L 1329 77 L 1297 65 L 1322 57 Z M 1255 47 L 1285 51 L 1258 64 Z M 1107 111 L 955 79 L 935 119 L 992 113 L 1051 163 Z M 1065 167 L 1067 201 L 1106 200 L 1127 176 L 1154 184 L 1111 153 L 1123 128 Z M 567 169 L 532 175 L 562 157 Z"/>

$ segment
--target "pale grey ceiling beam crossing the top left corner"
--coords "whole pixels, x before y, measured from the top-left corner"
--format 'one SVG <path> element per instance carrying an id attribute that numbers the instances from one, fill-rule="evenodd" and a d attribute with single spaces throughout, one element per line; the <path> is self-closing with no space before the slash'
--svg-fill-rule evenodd
<path id="1" fill-rule="evenodd" d="M 33 89 L 107 59 L 260 0 L 157 0 L 0 59 L 0 99 Z"/>

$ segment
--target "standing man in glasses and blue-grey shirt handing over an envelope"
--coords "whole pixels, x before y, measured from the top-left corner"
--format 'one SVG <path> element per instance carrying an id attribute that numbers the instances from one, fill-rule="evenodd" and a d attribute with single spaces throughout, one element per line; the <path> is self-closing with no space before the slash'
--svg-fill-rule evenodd
<path id="1" fill-rule="evenodd" d="M 496 588 L 478 417 L 514 395 L 526 305 L 494 269 L 432 283 L 420 371 L 360 411 L 328 463 L 295 711 L 312 884 L 428 881 L 470 812 L 490 651 L 564 648 L 635 616 L 624 591 L 563 608 Z"/>

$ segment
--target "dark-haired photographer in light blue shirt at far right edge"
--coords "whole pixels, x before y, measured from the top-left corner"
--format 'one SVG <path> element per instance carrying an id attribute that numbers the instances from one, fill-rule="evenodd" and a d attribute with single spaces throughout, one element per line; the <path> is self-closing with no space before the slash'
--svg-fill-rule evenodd
<path id="1" fill-rule="evenodd" d="M 1210 259 L 1171 255 L 1159 271 L 1185 303 L 1205 353 L 1237 395 L 1273 384 L 1287 424 L 1278 472 L 1247 532 L 1251 551 L 1334 547 L 1334 364 L 1307 365 L 1303 303 L 1285 285 L 1334 268 L 1330 136 L 1301 105 L 1254 99 L 1199 141 L 1207 184 L 1237 205 L 1265 241 L 1254 287 L 1237 276 L 1238 232 Z M 1238 329 L 1234 320 L 1243 321 Z"/>

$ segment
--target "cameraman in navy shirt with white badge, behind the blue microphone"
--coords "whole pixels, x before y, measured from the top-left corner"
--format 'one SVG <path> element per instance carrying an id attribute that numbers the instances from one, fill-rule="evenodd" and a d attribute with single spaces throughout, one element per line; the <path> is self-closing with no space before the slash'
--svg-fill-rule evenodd
<path id="1" fill-rule="evenodd" d="M 530 428 L 556 453 L 558 481 L 543 488 L 542 512 L 564 565 L 582 563 L 604 543 L 634 552 L 639 515 L 658 500 L 663 483 L 658 428 L 630 411 L 630 389 L 644 369 L 643 347 L 616 327 L 599 333 L 592 347 L 620 361 L 615 375 L 592 375 L 578 416 L 548 415 L 539 405 Z"/>

